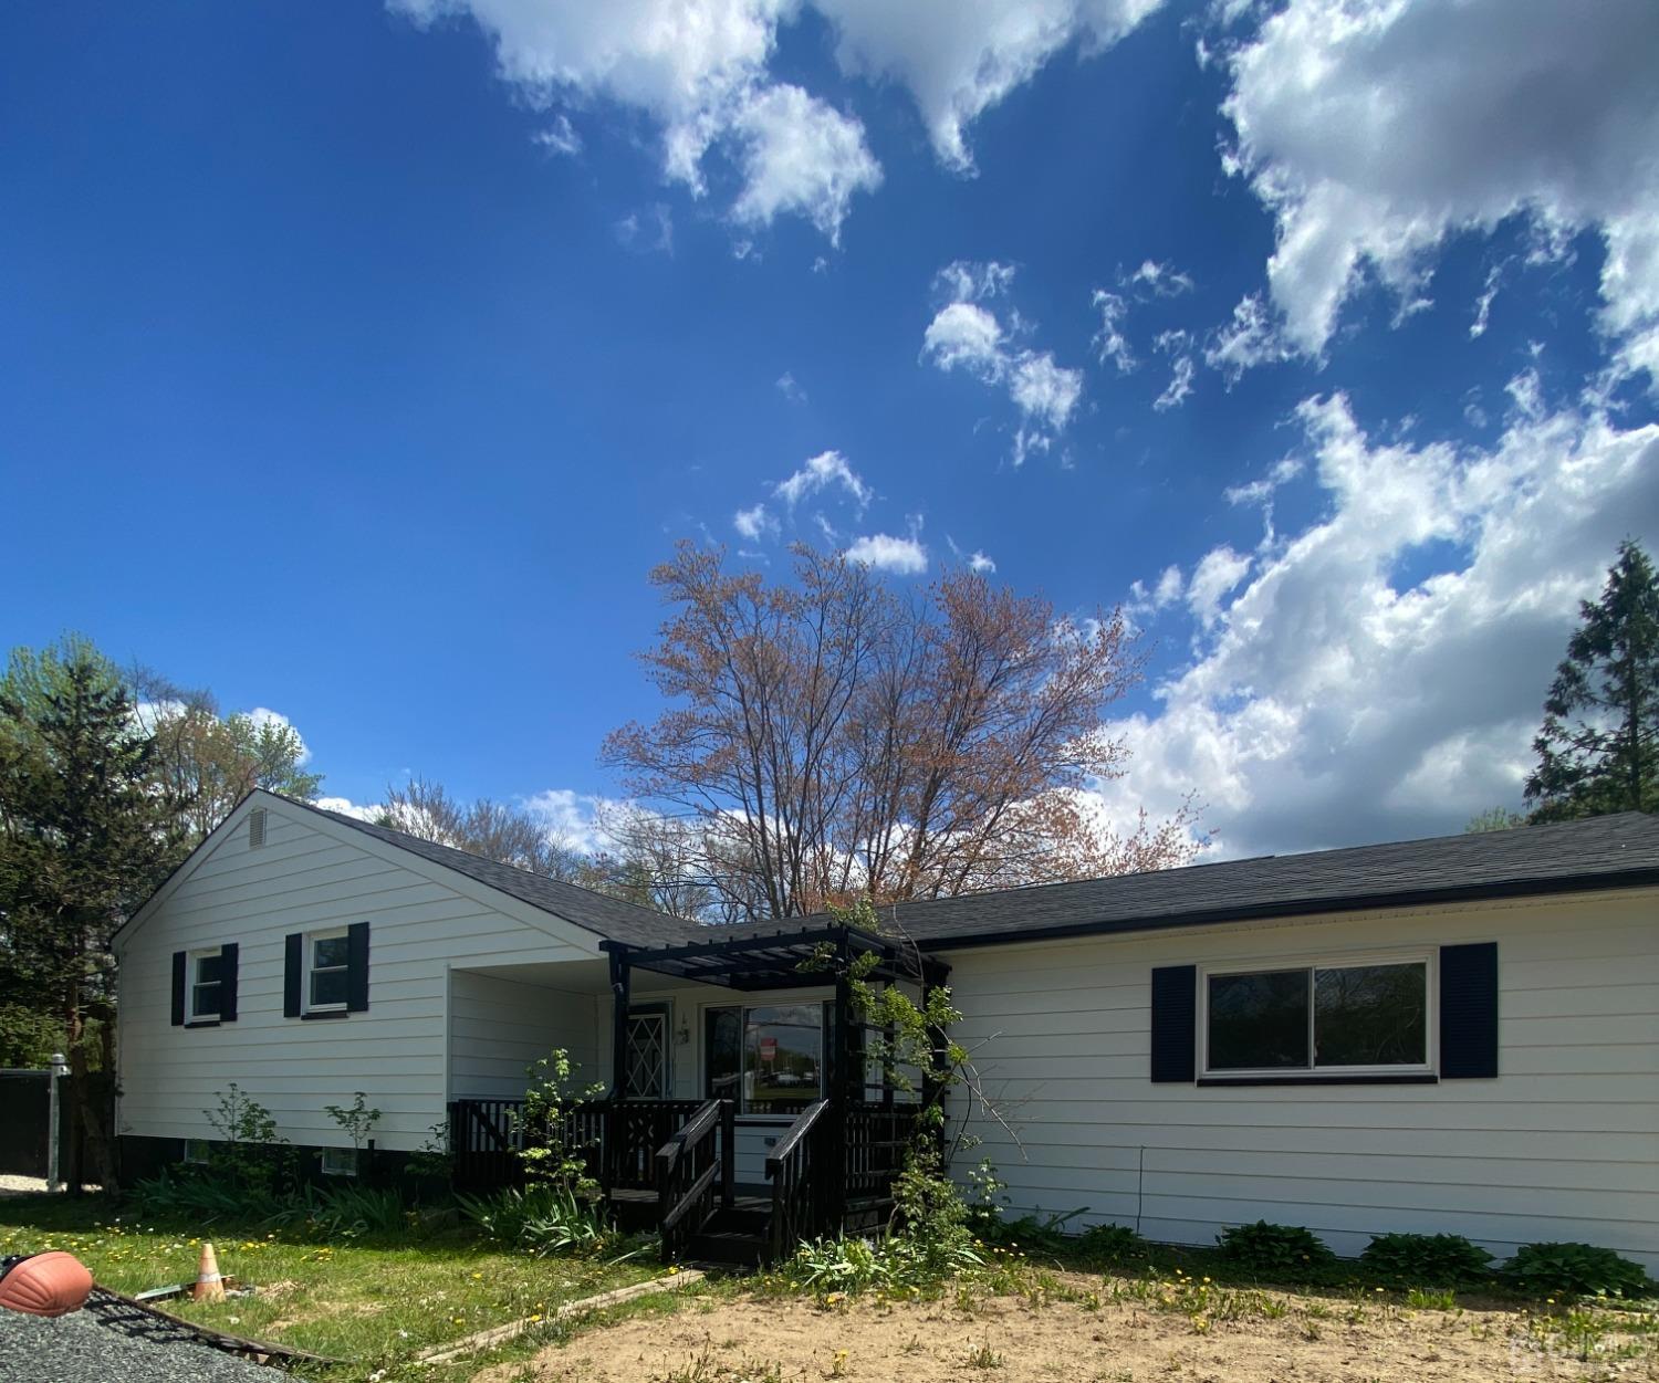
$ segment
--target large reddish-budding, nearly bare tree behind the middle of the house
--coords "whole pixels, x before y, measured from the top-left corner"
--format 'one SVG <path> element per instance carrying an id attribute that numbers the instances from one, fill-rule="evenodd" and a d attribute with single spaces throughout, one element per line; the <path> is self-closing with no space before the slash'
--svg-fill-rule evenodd
<path id="1" fill-rule="evenodd" d="M 1191 809 L 1103 829 L 1123 773 L 1102 730 L 1141 673 L 1121 614 L 951 572 L 911 602 L 839 554 L 793 580 L 682 544 L 652 572 L 672 614 L 644 653 L 670 701 L 604 746 L 640 798 L 698 823 L 692 871 L 747 915 L 1150 869 L 1191 857 Z"/>

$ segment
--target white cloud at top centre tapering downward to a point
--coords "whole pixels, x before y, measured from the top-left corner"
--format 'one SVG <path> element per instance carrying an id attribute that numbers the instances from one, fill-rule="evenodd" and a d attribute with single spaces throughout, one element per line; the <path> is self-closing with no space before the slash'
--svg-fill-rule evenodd
<path id="1" fill-rule="evenodd" d="M 1161 0 L 813 0 L 836 27 L 843 71 L 909 88 L 951 169 L 971 172 L 967 126 L 1055 53 L 1098 53 Z"/>

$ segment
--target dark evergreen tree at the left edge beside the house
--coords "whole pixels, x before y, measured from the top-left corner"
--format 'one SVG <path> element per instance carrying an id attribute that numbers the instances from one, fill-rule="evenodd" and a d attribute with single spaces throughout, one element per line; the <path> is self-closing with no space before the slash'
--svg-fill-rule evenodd
<path id="1" fill-rule="evenodd" d="M 93 1176 L 114 1182 L 109 940 L 182 856 L 176 804 L 121 675 L 81 638 L 0 677 L 0 967 L 68 1038 Z"/>

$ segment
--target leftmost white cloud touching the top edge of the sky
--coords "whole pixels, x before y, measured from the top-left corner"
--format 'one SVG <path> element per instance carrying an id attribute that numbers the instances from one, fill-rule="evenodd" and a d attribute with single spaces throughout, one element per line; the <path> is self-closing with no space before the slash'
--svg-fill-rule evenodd
<path id="1" fill-rule="evenodd" d="M 851 197 L 879 182 L 864 128 L 768 63 L 793 0 L 388 0 L 421 25 L 471 17 L 501 76 L 533 104 L 614 101 L 660 129 L 662 169 L 695 196 L 723 149 L 743 174 L 732 216 L 803 216 L 834 240 Z"/>

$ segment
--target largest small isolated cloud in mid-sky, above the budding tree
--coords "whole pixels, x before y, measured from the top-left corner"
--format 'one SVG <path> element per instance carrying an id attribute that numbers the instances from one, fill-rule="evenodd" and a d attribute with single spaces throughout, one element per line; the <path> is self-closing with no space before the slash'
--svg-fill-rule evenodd
<path id="1" fill-rule="evenodd" d="M 1007 390 L 1020 415 L 1014 434 L 1014 461 L 1020 464 L 1065 431 L 1083 396 L 1083 371 L 1058 365 L 1052 352 L 1024 345 L 1030 323 L 1017 312 L 1004 320 L 985 307 L 1012 282 L 1014 269 L 1005 264 L 957 260 L 941 269 L 934 287 L 949 300 L 922 333 L 922 360 Z"/>

